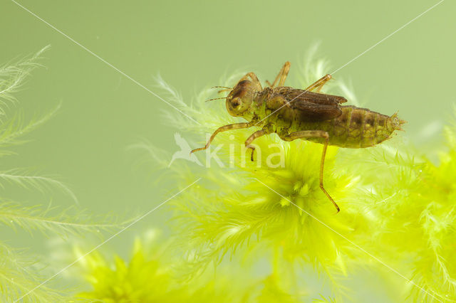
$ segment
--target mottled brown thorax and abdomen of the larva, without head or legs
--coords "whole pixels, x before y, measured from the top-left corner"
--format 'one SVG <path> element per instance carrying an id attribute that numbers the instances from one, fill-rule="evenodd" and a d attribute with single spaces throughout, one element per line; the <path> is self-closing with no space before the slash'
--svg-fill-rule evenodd
<path id="1" fill-rule="evenodd" d="M 269 132 L 284 137 L 291 132 L 318 129 L 328 133 L 328 145 L 346 148 L 365 148 L 389 139 L 396 129 L 400 129 L 403 121 L 397 115 L 388 116 L 373 112 L 367 108 L 351 105 L 339 106 L 340 115 L 333 119 L 318 121 L 309 117 L 309 112 L 296 110 L 291 106 L 284 106 L 288 100 L 284 97 L 284 89 L 296 90 L 291 87 L 276 87 L 276 89 L 265 88 L 259 92 L 255 100 L 255 106 L 249 115 L 250 120 L 258 120 L 257 126 L 269 129 Z M 304 90 L 298 90 L 304 92 Z M 316 95 L 340 98 L 340 96 L 317 94 L 306 92 L 315 97 Z M 266 119 L 259 119 L 266 117 Z M 306 138 L 311 142 L 323 144 L 323 137 Z"/>

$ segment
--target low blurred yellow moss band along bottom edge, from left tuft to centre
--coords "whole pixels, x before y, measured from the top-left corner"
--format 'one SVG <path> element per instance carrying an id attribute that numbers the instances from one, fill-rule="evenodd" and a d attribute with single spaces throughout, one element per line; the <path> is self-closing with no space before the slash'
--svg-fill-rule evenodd
<path id="1" fill-rule="evenodd" d="M 219 269 L 216 280 L 212 272 L 206 272 L 190 282 L 180 282 L 174 276 L 176 256 L 170 244 L 159 230 L 150 230 L 135 239 L 128 262 L 118 256 L 107 260 L 99 252 L 84 257 L 79 268 L 92 289 L 80 297 L 106 303 L 297 302 L 306 297 L 286 293 L 274 275 L 258 277 L 236 267 Z"/>

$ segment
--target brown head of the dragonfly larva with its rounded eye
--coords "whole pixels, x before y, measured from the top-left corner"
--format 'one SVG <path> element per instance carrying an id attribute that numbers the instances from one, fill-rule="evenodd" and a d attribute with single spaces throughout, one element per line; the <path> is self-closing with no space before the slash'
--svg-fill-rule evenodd
<path id="1" fill-rule="evenodd" d="M 227 97 L 227 111 L 229 115 L 241 117 L 249 112 L 256 92 L 261 90 L 258 83 L 242 79 L 233 88 Z"/>

